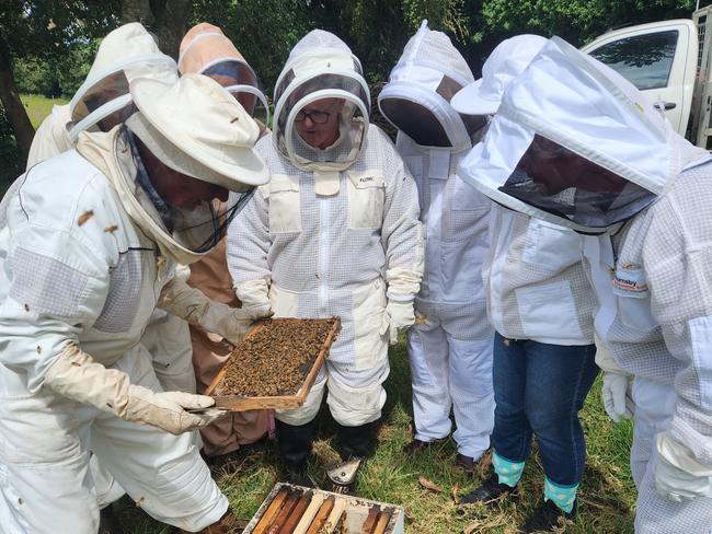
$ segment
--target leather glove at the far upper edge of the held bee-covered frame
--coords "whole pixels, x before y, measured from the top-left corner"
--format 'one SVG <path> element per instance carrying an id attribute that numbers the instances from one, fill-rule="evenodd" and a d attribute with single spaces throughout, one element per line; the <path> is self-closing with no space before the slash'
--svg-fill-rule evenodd
<path id="1" fill-rule="evenodd" d="M 163 287 L 157 306 L 206 332 L 219 334 L 232 345 L 244 339 L 256 320 L 272 315 L 268 307 L 230 307 L 211 301 L 181 278 L 173 278 Z"/>

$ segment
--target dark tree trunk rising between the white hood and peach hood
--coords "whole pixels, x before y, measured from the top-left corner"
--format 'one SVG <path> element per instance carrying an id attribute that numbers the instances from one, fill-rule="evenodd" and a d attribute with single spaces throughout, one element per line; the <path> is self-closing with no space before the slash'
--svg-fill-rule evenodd
<path id="1" fill-rule="evenodd" d="M 156 34 L 163 54 L 177 60 L 192 9 L 191 0 L 122 0 L 122 23 L 140 22 Z"/>

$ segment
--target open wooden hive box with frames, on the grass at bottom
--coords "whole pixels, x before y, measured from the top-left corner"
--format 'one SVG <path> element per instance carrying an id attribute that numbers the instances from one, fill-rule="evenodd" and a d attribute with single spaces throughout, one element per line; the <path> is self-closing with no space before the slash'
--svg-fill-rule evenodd
<path id="1" fill-rule="evenodd" d="M 277 483 L 243 534 L 403 534 L 401 507 Z"/>

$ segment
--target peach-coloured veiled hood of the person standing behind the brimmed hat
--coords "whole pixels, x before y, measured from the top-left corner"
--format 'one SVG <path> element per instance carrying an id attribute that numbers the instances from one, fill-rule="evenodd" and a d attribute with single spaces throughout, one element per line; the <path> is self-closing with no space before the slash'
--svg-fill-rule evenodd
<path id="1" fill-rule="evenodd" d="M 250 116 L 265 126 L 269 123 L 269 106 L 260 89 L 257 74 L 218 26 L 203 22 L 185 34 L 179 70 L 181 74 L 197 72 L 215 79 Z"/>

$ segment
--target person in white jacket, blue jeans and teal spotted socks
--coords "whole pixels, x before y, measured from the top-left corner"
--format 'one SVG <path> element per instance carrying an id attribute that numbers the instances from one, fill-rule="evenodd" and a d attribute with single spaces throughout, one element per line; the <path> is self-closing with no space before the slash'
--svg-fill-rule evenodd
<path id="1" fill-rule="evenodd" d="M 482 78 L 456 94 L 452 106 L 473 115 L 495 114 L 508 83 L 546 43 L 538 35 L 503 40 L 482 67 Z M 585 468 L 578 411 L 598 372 L 595 299 L 584 275 L 582 236 L 575 232 L 495 205 L 491 239 L 483 272 L 496 329 L 493 474 L 460 502 L 489 502 L 515 490 L 536 436 L 546 477 L 543 501 L 519 529 L 548 531 L 562 515 L 575 515 Z"/>

